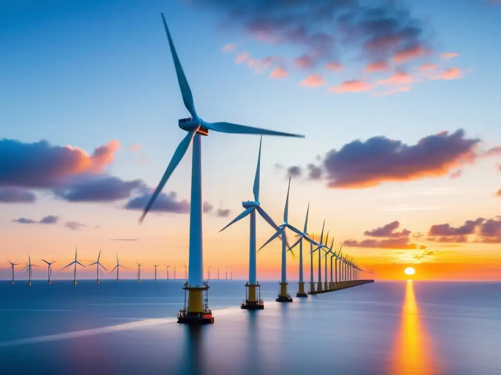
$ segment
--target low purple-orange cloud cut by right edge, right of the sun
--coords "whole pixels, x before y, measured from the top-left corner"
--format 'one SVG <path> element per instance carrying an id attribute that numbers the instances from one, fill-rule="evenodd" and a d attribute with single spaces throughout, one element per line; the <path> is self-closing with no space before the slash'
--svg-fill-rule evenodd
<path id="1" fill-rule="evenodd" d="M 454 227 L 448 223 L 435 224 L 428 231 L 428 240 L 435 242 L 473 242 L 501 243 L 501 216 L 485 219 L 478 217 L 466 220 L 462 225 Z"/>

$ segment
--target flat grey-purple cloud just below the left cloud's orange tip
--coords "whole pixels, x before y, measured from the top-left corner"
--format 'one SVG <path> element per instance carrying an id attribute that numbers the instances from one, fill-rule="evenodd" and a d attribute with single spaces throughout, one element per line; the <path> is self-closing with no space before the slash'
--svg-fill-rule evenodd
<path id="1" fill-rule="evenodd" d="M 69 202 L 112 202 L 126 199 L 138 189 L 146 189 L 141 179 L 124 181 L 110 175 L 87 175 L 73 178 L 64 188 L 54 189 L 54 194 Z"/>

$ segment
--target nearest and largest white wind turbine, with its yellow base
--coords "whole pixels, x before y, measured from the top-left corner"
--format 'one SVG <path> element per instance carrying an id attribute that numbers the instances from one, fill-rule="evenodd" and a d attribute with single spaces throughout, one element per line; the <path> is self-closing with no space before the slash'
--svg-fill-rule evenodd
<path id="1" fill-rule="evenodd" d="M 208 289 L 207 283 L 203 282 L 203 251 L 202 251 L 202 135 L 208 135 L 209 130 L 223 133 L 233 134 L 267 134 L 267 135 L 284 135 L 296 136 L 304 138 L 304 135 L 285 133 L 281 131 L 262 129 L 251 126 L 244 126 L 230 122 L 207 122 L 200 118 L 195 110 L 193 102 L 193 94 L 184 74 L 181 62 L 174 47 L 174 42 L 170 35 L 167 22 L 162 13 L 162 21 L 169 41 L 170 52 L 176 70 L 177 81 L 181 90 L 184 106 L 190 112 L 188 118 L 178 120 L 178 126 L 187 131 L 186 136 L 181 140 L 174 155 L 165 170 L 158 186 L 153 192 L 148 204 L 144 208 L 143 214 L 139 221 L 142 222 L 148 211 L 153 206 L 158 194 L 162 191 L 165 183 L 170 175 L 177 167 L 184 154 L 186 153 L 190 143 L 192 147 L 192 167 L 191 167 L 191 199 L 190 199 L 190 230 L 189 230 L 189 279 L 185 284 L 185 290 L 188 290 L 188 307 L 180 311 L 178 321 L 180 323 L 207 321 L 213 322 L 212 312 L 207 306 L 204 306 L 202 300 L 202 292 Z M 199 56 L 193 55 L 193 59 L 198 59 Z"/>

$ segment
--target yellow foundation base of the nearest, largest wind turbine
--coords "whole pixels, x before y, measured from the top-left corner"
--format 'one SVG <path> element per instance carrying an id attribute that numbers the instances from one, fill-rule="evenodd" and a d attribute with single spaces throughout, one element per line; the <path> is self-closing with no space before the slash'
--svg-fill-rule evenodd
<path id="1" fill-rule="evenodd" d="M 214 322 L 212 311 L 208 307 L 207 281 L 202 287 L 191 287 L 184 283 L 184 307 L 177 312 L 177 322 L 181 324 L 211 324 Z M 186 306 L 186 291 L 188 292 L 188 305 Z M 204 293 L 205 292 L 205 293 Z M 205 294 L 205 295 L 203 295 Z"/>

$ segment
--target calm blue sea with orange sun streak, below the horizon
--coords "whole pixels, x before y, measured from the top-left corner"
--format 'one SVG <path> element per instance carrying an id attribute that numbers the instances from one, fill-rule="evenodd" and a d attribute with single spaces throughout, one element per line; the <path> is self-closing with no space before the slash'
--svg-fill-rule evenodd
<path id="1" fill-rule="evenodd" d="M 211 280 L 214 324 L 176 324 L 182 280 L 0 281 L 0 374 L 500 375 L 501 282 L 377 281 L 240 310 Z M 294 293 L 292 293 L 294 291 Z"/>

